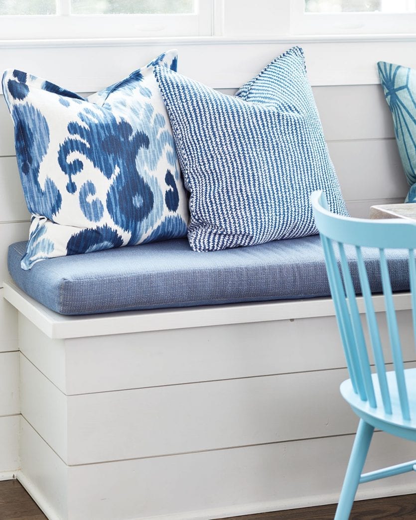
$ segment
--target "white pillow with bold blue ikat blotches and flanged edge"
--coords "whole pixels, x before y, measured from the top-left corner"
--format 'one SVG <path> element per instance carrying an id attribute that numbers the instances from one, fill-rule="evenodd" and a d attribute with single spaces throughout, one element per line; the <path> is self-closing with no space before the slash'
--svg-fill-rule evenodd
<path id="1" fill-rule="evenodd" d="M 45 258 L 186 235 L 187 195 L 153 75 L 155 66 L 176 70 L 176 63 L 177 52 L 168 51 L 88 98 L 5 71 L 32 213 L 23 269 Z"/>

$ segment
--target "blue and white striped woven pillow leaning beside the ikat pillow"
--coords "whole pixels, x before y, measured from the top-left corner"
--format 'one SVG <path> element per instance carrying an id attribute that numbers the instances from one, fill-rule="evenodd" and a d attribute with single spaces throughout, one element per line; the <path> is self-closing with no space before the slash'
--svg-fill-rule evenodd
<path id="1" fill-rule="evenodd" d="M 331 211 L 347 214 L 300 49 L 277 58 L 238 97 L 166 68 L 154 73 L 190 192 L 194 251 L 314 235 L 316 189 Z"/>

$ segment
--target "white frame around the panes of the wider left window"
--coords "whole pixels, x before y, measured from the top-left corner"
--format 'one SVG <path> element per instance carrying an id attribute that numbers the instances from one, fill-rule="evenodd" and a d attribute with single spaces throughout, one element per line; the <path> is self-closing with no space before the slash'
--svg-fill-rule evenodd
<path id="1" fill-rule="evenodd" d="M 210 36 L 213 4 L 196 0 L 195 11 L 182 15 L 72 15 L 70 0 L 57 0 L 57 15 L 0 16 L 0 41 Z"/>

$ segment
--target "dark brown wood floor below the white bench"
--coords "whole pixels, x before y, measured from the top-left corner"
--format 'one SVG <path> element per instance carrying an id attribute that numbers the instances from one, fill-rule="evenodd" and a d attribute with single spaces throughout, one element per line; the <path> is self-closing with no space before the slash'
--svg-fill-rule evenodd
<path id="1" fill-rule="evenodd" d="M 223 520 L 333 520 L 334 505 L 276 513 L 235 516 Z M 350 520 L 410 520 L 416 518 L 416 495 L 363 500 L 354 504 Z M 46 520 L 17 480 L 0 482 L 0 520 Z"/>

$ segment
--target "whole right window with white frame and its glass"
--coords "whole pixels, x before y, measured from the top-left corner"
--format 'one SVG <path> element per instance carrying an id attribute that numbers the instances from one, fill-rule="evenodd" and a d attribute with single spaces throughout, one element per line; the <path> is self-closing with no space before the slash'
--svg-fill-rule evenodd
<path id="1" fill-rule="evenodd" d="M 414 33 L 416 0 L 293 0 L 297 34 Z"/>

